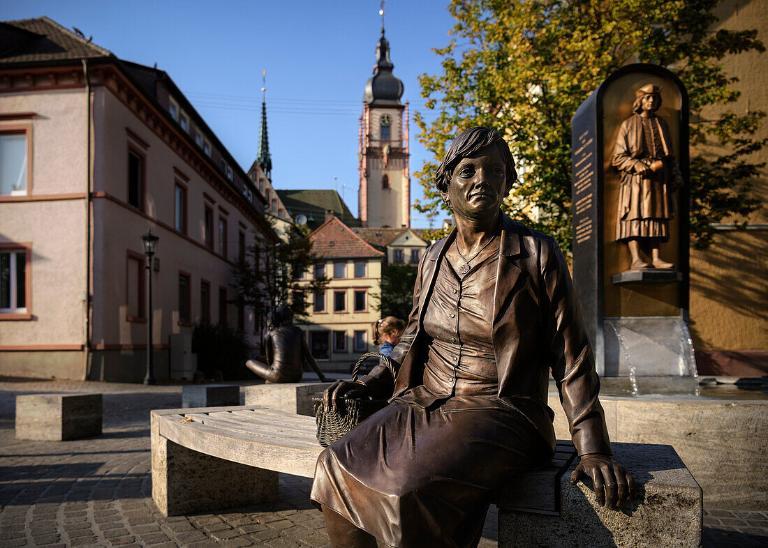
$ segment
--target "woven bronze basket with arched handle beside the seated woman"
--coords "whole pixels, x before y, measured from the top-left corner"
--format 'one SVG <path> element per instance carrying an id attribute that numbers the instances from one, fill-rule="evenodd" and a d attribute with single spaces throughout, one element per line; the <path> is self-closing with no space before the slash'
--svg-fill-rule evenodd
<path id="1" fill-rule="evenodd" d="M 392 363 L 389 357 L 378 352 L 366 352 L 357 360 L 355 368 L 352 370 L 352 382 L 357 380 L 360 372 L 360 366 L 368 358 L 383 359 L 389 370 L 393 371 Z M 394 373 L 392 373 L 394 376 Z M 312 403 L 315 409 L 315 422 L 317 423 L 317 441 L 323 447 L 328 447 L 334 441 L 339 440 L 348 434 L 360 422 L 369 418 L 379 409 L 387 405 L 386 399 L 370 398 L 345 398 L 336 402 L 336 411 L 329 409 L 326 411 L 323 405 L 323 398 L 313 398 Z"/>

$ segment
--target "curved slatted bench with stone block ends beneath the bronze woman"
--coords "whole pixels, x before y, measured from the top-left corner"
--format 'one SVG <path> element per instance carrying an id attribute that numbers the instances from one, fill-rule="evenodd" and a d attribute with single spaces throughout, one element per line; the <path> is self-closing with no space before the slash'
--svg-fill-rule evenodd
<path id="1" fill-rule="evenodd" d="M 313 477 L 323 451 L 315 432 L 311 417 L 256 405 L 155 410 L 152 497 L 165 516 L 276 500 L 279 472 Z M 617 444 L 636 481 L 629 515 L 597 507 L 588 487 L 568 483 L 577 459 L 570 441 L 558 441 L 548 468 L 499 490 L 499 546 L 581 546 L 573 539 L 582 527 L 590 532 L 583 546 L 647 546 L 661 523 L 677 530 L 664 537 L 674 542 L 657 545 L 699 546 L 700 488 L 672 448 L 635 445 Z"/>

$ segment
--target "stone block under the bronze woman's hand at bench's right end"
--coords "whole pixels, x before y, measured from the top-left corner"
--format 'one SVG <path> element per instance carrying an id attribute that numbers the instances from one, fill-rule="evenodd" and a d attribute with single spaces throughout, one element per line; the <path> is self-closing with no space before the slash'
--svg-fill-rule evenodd
<path id="1" fill-rule="evenodd" d="M 635 491 L 621 511 L 598 506 L 591 483 L 561 479 L 560 517 L 498 512 L 498 546 L 700 546 L 702 492 L 669 445 L 614 443 Z"/>

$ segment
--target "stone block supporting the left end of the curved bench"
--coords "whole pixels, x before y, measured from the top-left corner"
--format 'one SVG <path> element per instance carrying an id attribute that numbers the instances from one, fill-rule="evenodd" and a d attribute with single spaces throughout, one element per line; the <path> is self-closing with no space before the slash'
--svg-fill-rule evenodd
<path id="1" fill-rule="evenodd" d="M 278 473 L 192 451 L 163 438 L 151 415 L 152 499 L 164 516 L 276 500 Z"/>

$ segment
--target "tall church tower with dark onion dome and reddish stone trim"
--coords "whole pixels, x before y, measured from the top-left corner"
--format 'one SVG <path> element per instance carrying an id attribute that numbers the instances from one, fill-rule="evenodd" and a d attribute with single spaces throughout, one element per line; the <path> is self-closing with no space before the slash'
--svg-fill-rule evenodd
<path id="1" fill-rule="evenodd" d="M 359 216 L 363 226 L 401 228 L 411 224 L 408 103 L 400 102 L 402 82 L 392 74 L 380 13 L 382 35 L 359 123 Z"/>

